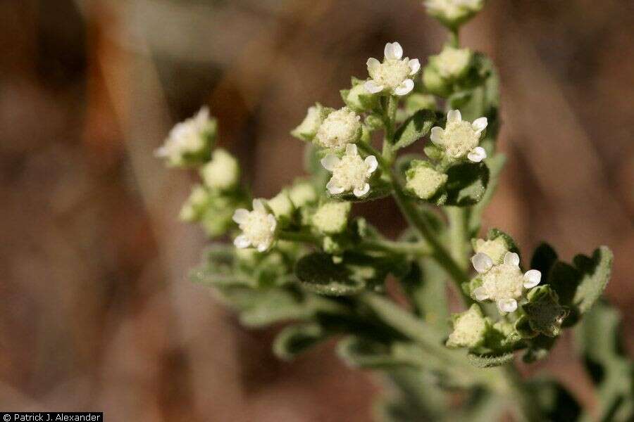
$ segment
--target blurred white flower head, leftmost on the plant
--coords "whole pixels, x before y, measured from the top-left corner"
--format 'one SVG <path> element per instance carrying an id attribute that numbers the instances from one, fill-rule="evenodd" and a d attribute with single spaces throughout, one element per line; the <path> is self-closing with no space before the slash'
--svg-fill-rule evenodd
<path id="1" fill-rule="evenodd" d="M 203 107 L 194 117 L 176 124 L 163 146 L 154 153 L 168 160 L 170 165 L 187 165 L 192 156 L 205 153 L 215 131 L 216 121 L 209 117 L 209 108 Z"/>

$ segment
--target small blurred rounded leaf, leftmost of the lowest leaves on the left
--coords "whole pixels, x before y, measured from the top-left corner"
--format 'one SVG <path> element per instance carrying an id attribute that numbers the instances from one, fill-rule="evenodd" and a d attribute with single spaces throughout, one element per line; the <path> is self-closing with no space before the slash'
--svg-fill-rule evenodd
<path id="1" fill-rule="evenodd" d="M 291 360 L 328 338 L 319 324 L 297 324 L 284 328 L 273 341 L 273 353 L 282 360 Z"/>

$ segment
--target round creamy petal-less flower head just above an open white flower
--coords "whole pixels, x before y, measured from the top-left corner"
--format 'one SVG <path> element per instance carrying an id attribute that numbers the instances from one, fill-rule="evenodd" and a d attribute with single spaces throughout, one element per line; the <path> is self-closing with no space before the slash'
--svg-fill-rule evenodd
<path id="1" fill-rule="evenodd" d="M 347 107 L 333 111 L 319 127 L 315 141 L 324 148 L 342 149 L 359 140 L 360 120 L 361 117 Z"/>

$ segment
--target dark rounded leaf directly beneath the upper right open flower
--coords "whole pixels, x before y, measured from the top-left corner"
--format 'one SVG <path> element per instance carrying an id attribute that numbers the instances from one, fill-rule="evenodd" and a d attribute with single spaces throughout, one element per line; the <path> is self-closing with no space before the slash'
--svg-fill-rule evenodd
<path id="1" fill-rule="evenodd" d="M 477 204 L 489 183 L 489 169 L 483 162 L 461 162 L 447 170 L 445 191 L 433 198 L 438 205 L 466 207 Z"/>

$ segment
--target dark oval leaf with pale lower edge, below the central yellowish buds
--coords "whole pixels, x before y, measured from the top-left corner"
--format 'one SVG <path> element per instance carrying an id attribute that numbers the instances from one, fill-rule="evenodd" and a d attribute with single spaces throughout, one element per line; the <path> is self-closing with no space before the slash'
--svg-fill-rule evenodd
<path id="1" fill-rule="evenodd" d="M 314 252 L 295 264 L 295 274 L 304 288 L 323 295 L 354 295 L 366 287 L 365 281 L 352 279 L 344 264 L 332 262 L 332 256 Z"/>

